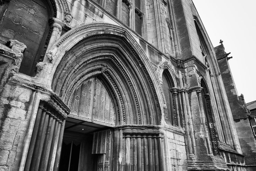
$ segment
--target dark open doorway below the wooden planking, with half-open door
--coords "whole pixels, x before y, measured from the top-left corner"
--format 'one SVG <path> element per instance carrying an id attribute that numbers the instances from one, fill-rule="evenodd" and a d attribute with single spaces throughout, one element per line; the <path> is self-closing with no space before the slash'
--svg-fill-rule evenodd
<path id="1" fill-rule="evenodd" d="M 58 170 L 98 171 L 104 168 L 110 145 L 108 148 L 104 145 L 104 150 L 101 146 L 110 144 L 110 132 L 110 127 L 104 125 L 67 118 Z M 100 149 L 99 153 L 96 149 Z"/>

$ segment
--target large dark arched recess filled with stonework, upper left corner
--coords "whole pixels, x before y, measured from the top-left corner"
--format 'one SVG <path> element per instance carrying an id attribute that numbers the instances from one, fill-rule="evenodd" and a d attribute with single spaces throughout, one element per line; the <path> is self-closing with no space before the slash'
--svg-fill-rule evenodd
<path id="1" fill-rule="evenodd" d="M 52 6 L 45 0 L 10 1 L 1 18 L 1 43 L 16 39 L 27 46 L 19 70 L 21 73 L 35 75 L 36 64 L 43 60 L 51 37 L 48 19 L 56 16 Z"/>

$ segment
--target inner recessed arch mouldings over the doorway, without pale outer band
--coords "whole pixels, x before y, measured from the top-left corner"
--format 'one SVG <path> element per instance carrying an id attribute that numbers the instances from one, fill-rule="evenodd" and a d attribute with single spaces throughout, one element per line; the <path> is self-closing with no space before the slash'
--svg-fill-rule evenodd
<path id="1" fill-rule="evenodd" d="M 68 35 L 64 35 L 61 42 L 67 41 Z M 62 48 L 63 44 L 58 45 Z M 98 54 L 96 49 L 100 50 Z M 56 63 L 54 59 L 53 63 Z M 93 34 L 78 41 L 56 68 L 52 88 L 66 102 L 78 85 L 96 75 L 103 76 L 111 87 L 110 91 L 115 93 L 117 121 L 159 123 L 160 106 L 155 86 L 145 63 L 124 35 Z M 143 93 L 146 90 L 152 93 Z M 145 117 L 145 114 L 148 116 Z"/>

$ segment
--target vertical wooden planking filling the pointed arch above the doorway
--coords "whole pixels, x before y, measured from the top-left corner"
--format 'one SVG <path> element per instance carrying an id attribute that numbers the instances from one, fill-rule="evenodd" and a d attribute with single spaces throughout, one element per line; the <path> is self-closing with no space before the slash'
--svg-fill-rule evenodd
<path id="1" fill-rule="evenodd" d="M 115 125 L 111 96 L 98 78 L 85 80 L 72 94 L 71 114 Z"/>

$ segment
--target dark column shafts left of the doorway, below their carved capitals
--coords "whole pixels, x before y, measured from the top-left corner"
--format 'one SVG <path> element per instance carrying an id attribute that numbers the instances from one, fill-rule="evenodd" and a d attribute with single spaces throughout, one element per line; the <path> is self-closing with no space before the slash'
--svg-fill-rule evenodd
<path id="1" fill-rule="evenodd" d="M 64 118 L 46 102 L 40 102 L 24 170 L 53 170 Z"/>

